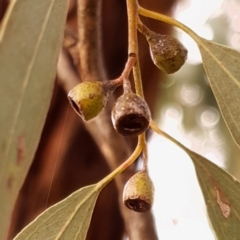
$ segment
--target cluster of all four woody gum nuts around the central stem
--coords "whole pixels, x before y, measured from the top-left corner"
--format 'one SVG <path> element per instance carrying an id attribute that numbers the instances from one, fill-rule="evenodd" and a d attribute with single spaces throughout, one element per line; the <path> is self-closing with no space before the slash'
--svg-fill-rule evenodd
<path id="1" fill-rule="evenodd" d="M 165 73 L 178 71 L 187 58 L 187 50 L 174 37 L 157 34 L 140 26 L 149 43 L 154 64 Z M 68 99 L 75 112 L 88 121 L 106 106 L 109 96 L 117 86 L 114 80 L 85 81 L 75 86 Z M 112 123 L 123 136 L 136 136 L 148 129 L 151 116 L 144 99 L 135 94 L 128 79 L 123 81 L 123 94 L 112 109 Z M 136 212 L 149 210 L 153 203 L 154 188 L 146 169 L 133 175 L 124 187 L 123 202 Z"/>

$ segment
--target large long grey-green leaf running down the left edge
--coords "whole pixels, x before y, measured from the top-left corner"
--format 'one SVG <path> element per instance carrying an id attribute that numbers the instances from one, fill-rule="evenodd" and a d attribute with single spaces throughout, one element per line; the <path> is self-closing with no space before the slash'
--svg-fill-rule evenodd
<path id="1" fill-rule="evenodd" d="M 0 29 L 0 239 L 49 108 L 67 0 L 13 0 Z"/>

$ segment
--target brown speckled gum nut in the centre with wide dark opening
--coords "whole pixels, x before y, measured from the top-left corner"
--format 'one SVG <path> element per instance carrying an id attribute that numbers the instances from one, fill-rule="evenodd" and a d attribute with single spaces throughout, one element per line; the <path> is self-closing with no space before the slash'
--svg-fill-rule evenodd
<path id="1" fill-rule="evenodd" d="M 112 122 L 124 136 L 139 135 L 149 126 L 150 111 L 147 103 L 132 92 L 119 97 L 112 110 Z"/>

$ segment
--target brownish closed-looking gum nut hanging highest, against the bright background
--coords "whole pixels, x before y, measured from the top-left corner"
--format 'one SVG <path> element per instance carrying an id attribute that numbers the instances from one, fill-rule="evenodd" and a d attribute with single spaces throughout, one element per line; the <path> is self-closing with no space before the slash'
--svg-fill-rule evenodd
<path id="1" fill-rule="evenodd" d="M 185 63 L 188 51 L 175 37 L 151 32 L 147 40 L 154 64 L 164 73 L 175 73 Z"/>

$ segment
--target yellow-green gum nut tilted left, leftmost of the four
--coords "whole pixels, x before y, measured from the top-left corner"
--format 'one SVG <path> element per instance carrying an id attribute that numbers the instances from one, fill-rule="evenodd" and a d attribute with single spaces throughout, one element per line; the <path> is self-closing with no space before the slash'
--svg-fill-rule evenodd
<path id="1" fill-rule="evenodd" d="M 107 102 L 103 83 L 100 81 L 86 81 L 78 84 L 68 93 L 68 99 L 75 112 L 84 121 L 96 117 Z"/>

